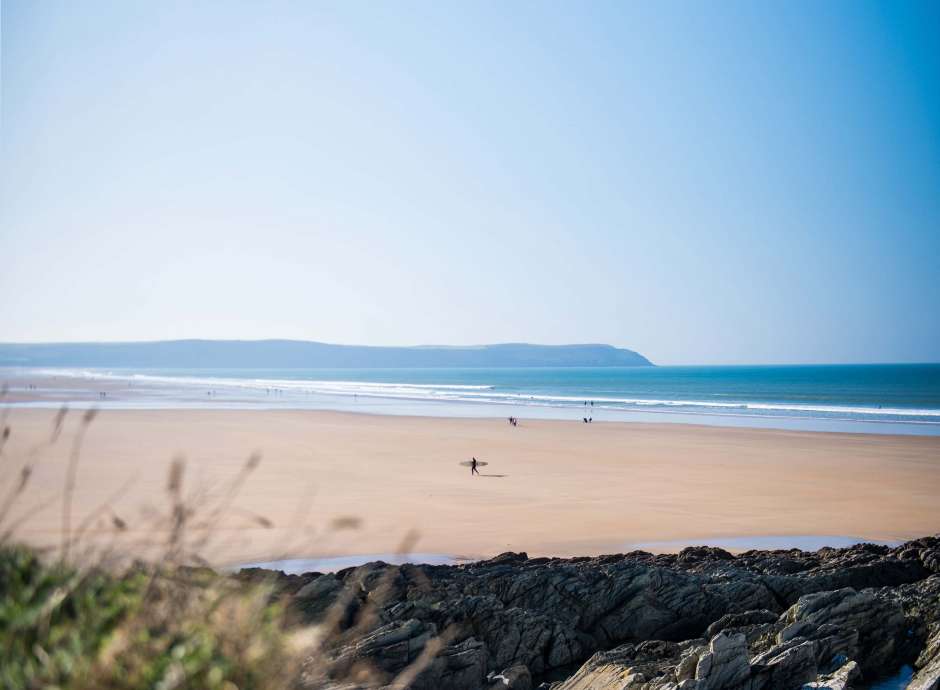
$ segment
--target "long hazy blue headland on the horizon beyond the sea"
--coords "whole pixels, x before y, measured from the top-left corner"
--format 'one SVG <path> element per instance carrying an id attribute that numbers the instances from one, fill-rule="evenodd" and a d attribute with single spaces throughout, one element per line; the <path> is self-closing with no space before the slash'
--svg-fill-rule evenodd
<path id="1" fill-rule="evenodd" d="M 0 343 L 0 366 L 186 368 L 423 368 L 653 366 L 612 345 L 372 347 L 304 340 Z"/>

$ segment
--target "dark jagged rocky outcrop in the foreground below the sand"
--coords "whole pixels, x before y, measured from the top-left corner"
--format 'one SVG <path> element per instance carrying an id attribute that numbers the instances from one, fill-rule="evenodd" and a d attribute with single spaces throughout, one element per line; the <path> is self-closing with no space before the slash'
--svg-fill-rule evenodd
<path id="1" fill-rule="evenodd" d="M 852 688 L 909 663 L 911 687 L 940 688 L 940 537 L 737 556 L 507 553 L 275 584 L 303 620 L 343 631 L 334 675 L 368 664 L 372 687 L 418 663 L 411 687 L 429 689 Z"/>

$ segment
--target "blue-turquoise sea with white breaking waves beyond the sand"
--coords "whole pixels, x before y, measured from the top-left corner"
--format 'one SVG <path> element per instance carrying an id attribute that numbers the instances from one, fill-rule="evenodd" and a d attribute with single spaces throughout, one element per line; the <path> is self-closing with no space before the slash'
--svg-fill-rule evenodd
<path id="1" fill-rule="evenodd" d="M 11 370 L 45 397 L 103 407 L 355 410 L 380 414 L 677 421 L 940 434 L 940 364 L 494 369 Z M 0 373 L 0 378 L 3 378 Z M 55 391 L 59 391 L 56 393 Z"/>

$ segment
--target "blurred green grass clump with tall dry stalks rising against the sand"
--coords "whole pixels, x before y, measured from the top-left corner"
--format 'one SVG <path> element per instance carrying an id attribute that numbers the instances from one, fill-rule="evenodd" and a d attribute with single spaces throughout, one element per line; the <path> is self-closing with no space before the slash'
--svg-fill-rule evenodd
<path id="1" fill-rule="evenodd" d="M 0 400 L 5 392 L 0 389 Z M 184 498 L 184 462 L 174 460 L 169 509 L 144 524 L 164 550 L 156 561 L 127 567 L 120 563 L 132 551 L 83 541 L 96 516 L 110 515 L 111 536 L 126 533 L 127 523 L 109 505 L 73 520 L 82 441 L 95 410 L 80 416 L 72 434 L 59 503 L 30 500 L 26 493 L 40 457 L 63 435 L 66 408 L 54 416 L 48 439 L 20 457 L 7 452 L 8 413 L 0 413 L 0 688 L 280 690 L 298 687 L 302 670 L 305 687 L 317 687 L 324 664 L 317 661 L 323 657 L 315 628 L 289 625 L 267 584 L 189 565 L 202 562 L 199 548 L 257 467 L 257 454 L 217 500 L 198 505 Z M 35 510 L 50 507 L 62 511 L 60 548 L 18 543 L 17 528 Z"/>

